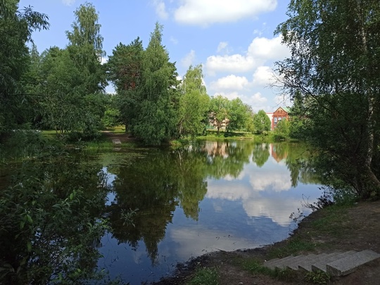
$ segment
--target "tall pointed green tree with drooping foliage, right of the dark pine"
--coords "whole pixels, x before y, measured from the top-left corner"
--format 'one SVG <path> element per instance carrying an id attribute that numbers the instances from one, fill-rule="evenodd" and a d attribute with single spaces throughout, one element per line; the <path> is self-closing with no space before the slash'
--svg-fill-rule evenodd
<path id="1" fill-rule="evenodd" d="M 144 144 L 159 145 L 177 135 L 179 84 L 174 63 L 162 45 L 163 26 L 155 30 L 144 52 L 137 122 L 134 134 Z"/>

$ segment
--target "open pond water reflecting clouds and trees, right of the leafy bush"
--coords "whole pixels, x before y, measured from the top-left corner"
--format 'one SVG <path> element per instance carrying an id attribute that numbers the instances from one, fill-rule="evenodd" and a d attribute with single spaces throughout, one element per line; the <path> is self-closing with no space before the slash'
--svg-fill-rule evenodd
<path id="1" fill-rule="evenodd" d="M 204 253 L 286 239 L 291 213 L 308 215 L 302 204 L 321 194 L 300 144 L 205 141 L 139 154 L 128 163 L 123 153 L 100 158 L 113 229 L 101 239 L 98 265 L 132 285 Z"/>

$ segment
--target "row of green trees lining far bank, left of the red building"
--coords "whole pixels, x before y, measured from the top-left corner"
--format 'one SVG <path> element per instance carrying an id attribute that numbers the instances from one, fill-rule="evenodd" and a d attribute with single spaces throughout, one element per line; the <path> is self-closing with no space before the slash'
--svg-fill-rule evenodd
<path id="1" fill-rule="evenodd" d="M 208 125 L 217 132 L 222 127 L 270 130 L 262 115 L 254 120 L 251 106 L 241 99 L 208 96 L 202 65 L 190 66 L 179 80 L 159 23 L 146 49 L 137 37 L 115 46 L 103 64 L 106 53 L 94 5 L 75 10 L 65 48 L 51 46 L 41 54 L 32 32 L 49 29 L 47 15 L 30 7 L 20 10 L 16 0 L 0 5 L 0 137 L 14 129 L 39 128 L 72 140 L 94 139 L 105 125 L 122 124 L 144 144 L 159 145 L 204 134 Z M 106 94 L 108 82 L 116 94 Z"/>

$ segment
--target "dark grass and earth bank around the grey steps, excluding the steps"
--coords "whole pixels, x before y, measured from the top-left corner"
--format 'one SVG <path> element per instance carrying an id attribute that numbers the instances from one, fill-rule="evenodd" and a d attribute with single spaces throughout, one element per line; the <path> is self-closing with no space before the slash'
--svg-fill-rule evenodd
<path id="1" fill-rule="evenodd" d="M 289 255 L 362 251 L 380 253 L 380 201 L 356 205 L 331 205 L 305 217 L 289 239 L 263 248 L 219 251 L 191 260 L 186 270 L 159 284 L 378 284 L 380 261 L 346 277 L 324 272 L 270 270 L 265 260 Z M 360 281 L 358 281 L 360 280 Z M 358 283 L 359 282 L 359 283 Z M 361 282 L 361 283 L 360 283 Z M 372 283 L 371 283 L 372 282 Z"/>

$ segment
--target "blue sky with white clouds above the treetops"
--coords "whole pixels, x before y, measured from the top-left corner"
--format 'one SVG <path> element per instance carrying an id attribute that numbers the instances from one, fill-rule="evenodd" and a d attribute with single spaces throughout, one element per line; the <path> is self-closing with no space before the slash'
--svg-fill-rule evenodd
<path id="1" fill-rule="evenodd" d="M 50 30 L 34 32 L 41 53 L 50 46 L 68 44 L 74 11 L 84 0 L 21 0 L 20 8 L 49 16 Z M 163 44 L 182 77 L 189 65 L 203 65 L 210 96 L 241 98 L 257 112 L 276 110 L 284 94 L 271 89 L 274 61 L 289 56 L 274 36 L 286 20 L 289 0 L 94 0 L 99 12 L 103 49 L 111 55 L 120 42 L 140 37 L 146 47 L 158 21 L 164 26 Z M 107 91 L 112 92 L 110 86 Z"/>

